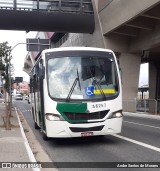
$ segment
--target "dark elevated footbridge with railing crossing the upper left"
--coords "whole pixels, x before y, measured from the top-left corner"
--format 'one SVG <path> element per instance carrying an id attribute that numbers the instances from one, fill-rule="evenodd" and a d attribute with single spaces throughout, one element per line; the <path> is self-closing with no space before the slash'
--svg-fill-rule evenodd
<path id="1" fill-rule="evenodd" d="M 0 0 L 0 29 L 93 33 L 91 0 Z"/>

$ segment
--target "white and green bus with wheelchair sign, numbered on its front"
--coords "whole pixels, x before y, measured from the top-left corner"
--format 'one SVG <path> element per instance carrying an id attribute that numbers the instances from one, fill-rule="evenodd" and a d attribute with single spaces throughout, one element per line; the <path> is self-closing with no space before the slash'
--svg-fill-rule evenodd
<path id="1" fill-rule="evenodd" d="M 44 50 L 30 72 L 30 91 L 35 128 L 45 139 L 121 132 L 121 78 L 111 50 Z"/>

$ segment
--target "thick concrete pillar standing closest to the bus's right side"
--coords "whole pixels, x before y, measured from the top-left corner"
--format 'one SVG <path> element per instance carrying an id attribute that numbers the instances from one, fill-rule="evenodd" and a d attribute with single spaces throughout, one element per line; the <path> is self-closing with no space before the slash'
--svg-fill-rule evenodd
<path id="1" fill-rule="evenodd" d="M 138 93 L 140 54 L 122 53 L 119 56 L 122 72 L 123 110 L 136 112 L 136 97 Z"/>

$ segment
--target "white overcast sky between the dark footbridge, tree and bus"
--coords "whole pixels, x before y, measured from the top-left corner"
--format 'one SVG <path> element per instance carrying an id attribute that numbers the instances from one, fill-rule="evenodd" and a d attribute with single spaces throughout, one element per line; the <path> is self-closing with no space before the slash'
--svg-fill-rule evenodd
<path id="1" fill-rule="evenodd" d="M 35 38 L 37 32 L 29 32 L 25 31 L 4 31 L 0 30 L 0 43 L 8 41 L 9 46 L 12 48 L 17 43 L 26 43 L 27 38 Z M 23 71 L 24 66 L 24 58 L 27 55 L 26 45 L 17 45 L 12 50 L 13 60 L 11 63 L 14 65 L 14 73 L 15 77 L 23 77 L 25 81 L 29 80 L 29 76 Z"/>

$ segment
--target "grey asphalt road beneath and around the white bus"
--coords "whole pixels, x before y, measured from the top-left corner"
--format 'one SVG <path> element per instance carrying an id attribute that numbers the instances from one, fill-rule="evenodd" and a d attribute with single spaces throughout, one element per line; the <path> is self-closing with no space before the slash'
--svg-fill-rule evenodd
<path id="1" fill-rule="evenodd" d="M 34 129 L 30 105 L 14 101 L 24 114 L 36 138 L 54 162 L 160 162 L 160 120 L 124 116 L 122 133 L 116 136 L 87 137 L 44 141 Z M 59 167 L 59 166 L 58 166 Z M 85 170 L 128 170 L 140 168 L 88 168 Z M 60 170 L 84 170 L 66 169 Z M 159 171 L 160 168 L 143 168 Z"/>

